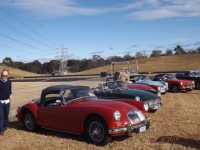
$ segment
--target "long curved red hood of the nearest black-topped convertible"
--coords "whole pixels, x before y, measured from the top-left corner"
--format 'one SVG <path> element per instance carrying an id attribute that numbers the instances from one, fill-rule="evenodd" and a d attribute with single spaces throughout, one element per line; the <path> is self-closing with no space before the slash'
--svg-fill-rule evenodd
<path id="1" fill-rule="evenodd" d="M 137 109 L 135 106 L 114 100 L 104 100 L 95 98 L 84 98 L 81 100 L 76 100 L 71 102 L 72 105 L 83 108 L 83 107 L 93 107 L 93 108 L 107 108 L 110 110 L 119 110 L 121 112 L 128 112 Z"/>

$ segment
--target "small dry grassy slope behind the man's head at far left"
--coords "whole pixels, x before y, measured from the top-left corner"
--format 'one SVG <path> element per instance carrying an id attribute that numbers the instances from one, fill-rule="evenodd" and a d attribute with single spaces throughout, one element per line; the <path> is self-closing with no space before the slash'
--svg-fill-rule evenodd
<path id="1" fill-rule="evenodd" d="M 22 71 L 22 70 L 19 70 L 19 69 L 14 69 L 14 68 L 11 68 L 11 67 L 0 65 L 0 71 L 2 71 L 3 69 L 8 69 L 9 73 L 10 73 L 10 77 L 14 77 L 14 78 L 39 76 L 38 74 L 35 74 L 35 73 Z"/>

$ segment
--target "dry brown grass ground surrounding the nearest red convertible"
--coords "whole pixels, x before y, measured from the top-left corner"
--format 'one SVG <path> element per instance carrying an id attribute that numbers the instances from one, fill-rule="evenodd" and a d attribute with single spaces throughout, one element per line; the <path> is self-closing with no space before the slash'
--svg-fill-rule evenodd
<path id="1" fill-rule="evenodd" d="M 94 81 L 69 82 L 75 85 L 95 87 Z M 10 128 L 0 136 L 0 150 L 69 149 L 69 150 L 132 150 L 132 149 L 200 149 L 200 90 L 191 93 L 167 93 L 162 95 L 164 105 L 150 113 L 152 124 L 148 131 L 132 137 L 114 138 L 103 147 L 85 142 L 78 135 L 46 129 L 25 131 L 13 118 L 18 106 L 40 96 L 41 90 L 61 82 L 13 83 L 14 99 L 11 104 Z M 65 83 L 66 84 L 66 83 Z"/>

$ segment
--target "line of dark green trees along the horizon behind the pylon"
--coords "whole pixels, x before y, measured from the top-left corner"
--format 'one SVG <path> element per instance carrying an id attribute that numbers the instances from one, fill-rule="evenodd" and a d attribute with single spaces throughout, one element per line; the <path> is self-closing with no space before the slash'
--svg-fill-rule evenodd
<path id="1" fill-rule="evenodd" d="M 165 52 L 161 50 L 153 50 L 148 55 L 146 51 L 136 52 L 134 56 L 126 54 L 124 56 L 110 56 L 108 58 L 102 58 L 99 55 L 93 55 L 90 59 L 69 59 L 68 67 L 70 72 L 80 72 L 104 65 L 109 65 L 111 62 L 116 61 L 129 61 L 132 59 L 147 58 L 147 57 L 158 57 L 158 56 L 169 56 L 169 55 L 182 55 L 187 53 L 200 53 L 200 47 L 193 50 L 184 50 L 180 45 L 177 45 L 173 50 L 167 49 Z M 52 72 L 58 71 L 60 67 L 60 60 L 51 60 L 49 62 L 41 63 L 38 60 L 33 62 L 24 63 L 19 61 L 13 61 L 12 58 L 6 57 L 2 61 L 3 65 L 10 66 L 13 68 L 30 71 L 38 74 L 51 74 Z"/>

